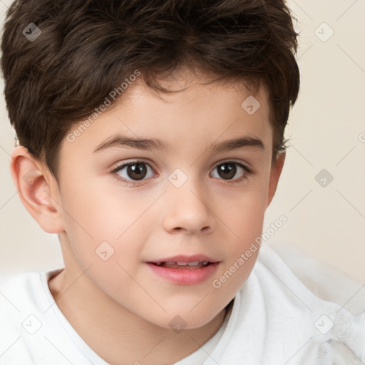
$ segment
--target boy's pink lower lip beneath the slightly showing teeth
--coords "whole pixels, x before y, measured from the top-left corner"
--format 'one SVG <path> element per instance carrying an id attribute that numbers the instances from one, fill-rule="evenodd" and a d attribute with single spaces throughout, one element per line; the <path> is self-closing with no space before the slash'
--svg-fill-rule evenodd
<path id="1" fill-rule="evenodd" d="M 192 285 L 203 282 L 216 271 L 219 262 L 209 264 L 200 269 L 169 269 L 147 262 L 148 267 L 160 277 L 175 284 Z"/>

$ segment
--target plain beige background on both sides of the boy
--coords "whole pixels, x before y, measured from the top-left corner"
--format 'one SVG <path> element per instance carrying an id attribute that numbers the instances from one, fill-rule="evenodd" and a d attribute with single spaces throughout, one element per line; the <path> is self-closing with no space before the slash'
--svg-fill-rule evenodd
<path id="1" fill-rule="evenodd" d="M 0 0 L 1 24 L 9 4 Z M 288 4 L 301 32 L 302 87 L 289 118 L 291 147 L 264 232 L 286 215 L 287 222 L 267 242 L 297 247 L 365 283 L 365 1 Z M 61 266 L 57 235 L 41 230 L 11 180 L 14 132 L 4 96 L 0 118 L 0 272 Z M 321 176 L 316 180 L 322 169 L 334 178 L 326 187 L 317 183 Z"/>

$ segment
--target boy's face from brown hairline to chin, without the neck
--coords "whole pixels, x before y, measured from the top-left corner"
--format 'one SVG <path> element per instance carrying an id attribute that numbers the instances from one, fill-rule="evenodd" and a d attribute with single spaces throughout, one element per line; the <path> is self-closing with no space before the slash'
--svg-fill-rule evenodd
<path id="1" fill-rule="evenodd" d="M 122 102 L 72 143 L 63 140 L 60 188 L 51 189 L 61 200 L 66 271 L 87 269 L 92 287 L 110 303 L 166 328 L 175 316 L 186 328 L 201 327 L 235 296 L 258 250 L 244 264 L 237 260 L 262 233 L 281 170 L 280 163 L 271 165 L 264 88 L 252 114 L 257 104 L 241 106 L 250 96 L 243 87 L 188 86 L 158 98 L 135 82 Z M 170 147 L 113 143 L 98 149 L 115 135 L 158 139 Z M 214 148 L 237 138 L 261 140 L 263 148 L 239 143 Z M 115 171 L 123 163 L 129 168 Z M 176 269 L 151 263 L 177 255 L 200 255 L 190 262 L 209 258 L 215 264 Z M 235 272 L 220 281 L 235 262 Z"/>

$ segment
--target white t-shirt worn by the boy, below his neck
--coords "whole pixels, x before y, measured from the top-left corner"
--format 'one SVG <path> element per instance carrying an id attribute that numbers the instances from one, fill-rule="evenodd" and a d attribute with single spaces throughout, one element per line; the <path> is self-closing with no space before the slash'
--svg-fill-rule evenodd
<path id="1" fill-rule="evenodd" d="M 54 302 L 48 278 L 61 269 L 17 274 L 1 283 L 0 365 L 108 364 Z M 220 330 L 175 365 L 364 363 L 365 303 L 355 315 L 319 299 L 264 245 Z"/>

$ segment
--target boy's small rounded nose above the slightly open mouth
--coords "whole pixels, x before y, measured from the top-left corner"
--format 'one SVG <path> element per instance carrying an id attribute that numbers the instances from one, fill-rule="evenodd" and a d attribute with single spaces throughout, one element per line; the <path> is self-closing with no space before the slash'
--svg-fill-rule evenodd
<path id="1" fill-rule="evenodd" d="M 163 217 L 166 231 L 206 234 L 215 229 L 217 221 L 209 192 L 197 180 L 189 178 L 181 187 L 168 186 Z"/>

